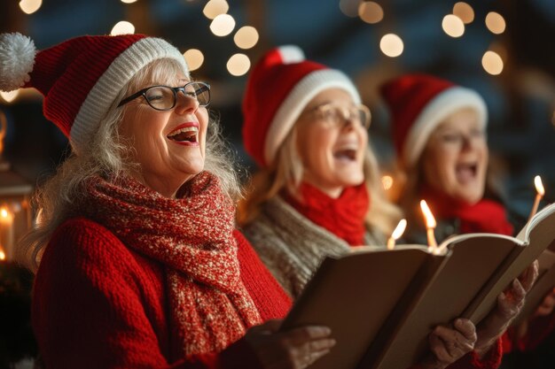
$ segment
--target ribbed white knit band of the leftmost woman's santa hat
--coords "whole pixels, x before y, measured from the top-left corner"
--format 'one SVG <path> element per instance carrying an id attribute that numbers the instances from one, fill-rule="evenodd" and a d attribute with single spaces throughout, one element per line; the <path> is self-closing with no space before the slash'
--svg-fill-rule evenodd
<path id="1" fill-rule="evenodd" d="M 175 59 L 189 75 L 184 56 L 168 42 L 153 37 L 141 39 L 113 60 L 105 73 L 98 79 L 77 112 L 71 127 L 70 140 L 75 152 L 87 147 L 91 137 L 98 130 L 100 121 L 113 104 L 113 99 L 121 88 L 145 65 L 160 58 Z M 86 73 L 86 72 L 85 72 Z"/>

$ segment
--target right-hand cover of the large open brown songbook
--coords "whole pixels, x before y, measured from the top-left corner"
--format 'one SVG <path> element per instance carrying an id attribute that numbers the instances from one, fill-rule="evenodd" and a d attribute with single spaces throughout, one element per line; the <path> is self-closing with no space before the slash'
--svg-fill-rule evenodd
<path id="1" fill-rule="evenodd" d="M 380 357 L 370 360 L 374 369 L 398 369 L 415 365 L 428 350 L 428 334 L 463 315 L 514 247 L 512 237 L 496 234 L 463 234 L 452 237 L 451 255 L 418 299 L 407 309 L 401 324 Z"/>

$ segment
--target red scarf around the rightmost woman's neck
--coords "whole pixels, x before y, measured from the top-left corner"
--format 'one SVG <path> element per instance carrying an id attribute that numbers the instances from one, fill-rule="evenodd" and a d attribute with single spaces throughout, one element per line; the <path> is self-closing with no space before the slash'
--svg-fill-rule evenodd
<path id="1" fill-rule="evenodd" d="M 466 204 L 431 188 L 425 188 L 422 195 L 436 219 L 460 219 L 462 234 L 485 232 L 512 235 L 506 211 L 496 201 L 481 199 L 476 204 Z"/>

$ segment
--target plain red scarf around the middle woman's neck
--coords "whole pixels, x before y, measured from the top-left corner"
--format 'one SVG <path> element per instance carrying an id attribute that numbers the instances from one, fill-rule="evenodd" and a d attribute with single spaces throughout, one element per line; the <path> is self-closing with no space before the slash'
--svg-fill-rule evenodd
<path id="1" fill-rule="evenodd" d="M 338 198 L 327 196 L 305 182 L 301 183 L 299 193 L 302 202 L 289 195 L 285 195 L 285 201 L 313 223 L 324 227 L 349 245 L 364 244 L 364 218 L 370 206 L 370 196 L 364 183 L 345 188 Z"/>

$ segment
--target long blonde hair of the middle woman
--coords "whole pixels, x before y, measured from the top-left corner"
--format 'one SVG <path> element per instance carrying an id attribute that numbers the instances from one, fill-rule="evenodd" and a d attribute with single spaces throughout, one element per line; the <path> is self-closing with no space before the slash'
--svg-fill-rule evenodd
<path id="1" fill-rule="evenodd" d="M 277 196 L 282 189 L 294 195 L 301 185 L 304 168 L 296 142 L 297 129 L 293 127 L 285 141 L 277 150 L 273 165 L 254 173 L 247 185 L 246 197 L 238 204 L 238 225 L 246 226 L 256 219 L 264 203 Z M 390 203 L 384 193 L 379 176 L 379 166 L 371 144 L 364 152 L 364 182 L 371 196 L 371 205 L 366 213 L 366 227 L 377 229 L 383 234 L 391 234 L 402 213 Z"/>

